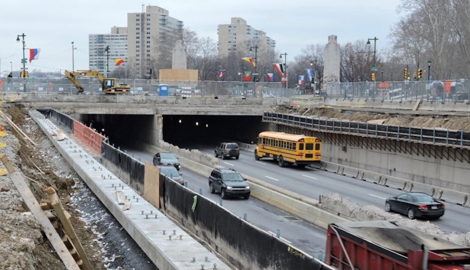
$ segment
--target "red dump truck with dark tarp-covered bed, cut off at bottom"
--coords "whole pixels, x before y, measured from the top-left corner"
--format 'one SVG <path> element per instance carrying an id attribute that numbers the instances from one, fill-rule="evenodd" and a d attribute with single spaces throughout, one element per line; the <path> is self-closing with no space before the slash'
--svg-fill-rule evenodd
<path id="1" fill-rule="evenodd" d="M 391 221 L 331 223 L 325 262 L 338 270 L 467 270 L 470 248 Z"/>

